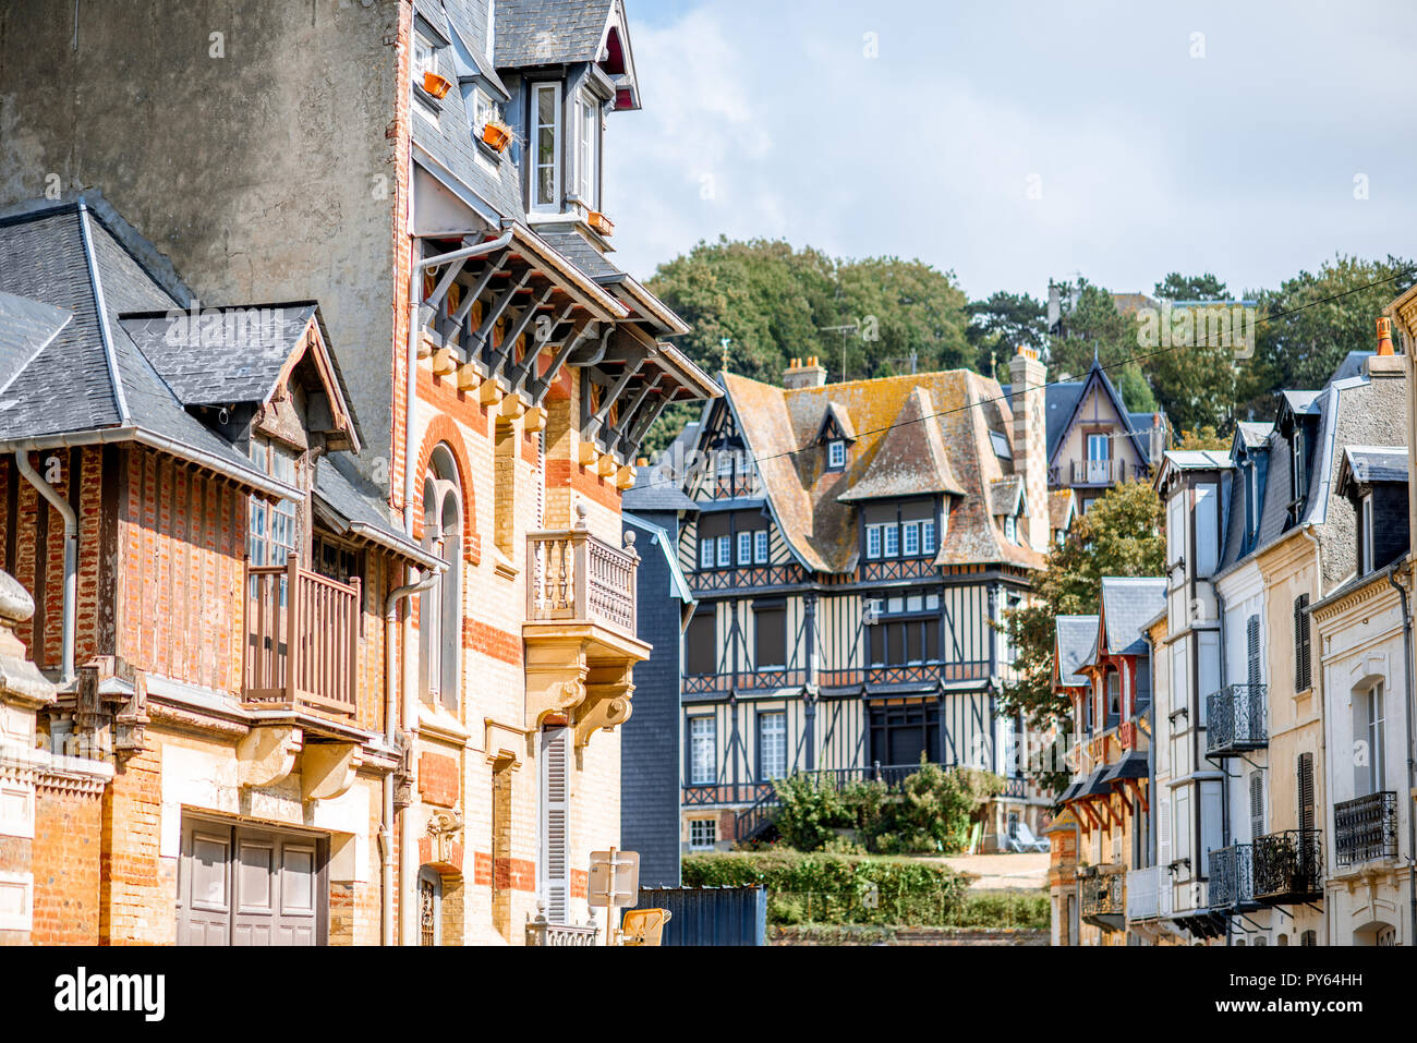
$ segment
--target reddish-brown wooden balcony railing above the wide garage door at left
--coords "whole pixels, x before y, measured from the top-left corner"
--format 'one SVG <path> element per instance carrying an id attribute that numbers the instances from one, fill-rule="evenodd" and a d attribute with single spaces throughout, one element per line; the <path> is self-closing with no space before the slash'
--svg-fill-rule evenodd
<path id="1" fill-rule="evenodd" d="M 295 558 L 248 567 L 244 699 L 353 714 L 359 625 L 357 578 L 336 582 Z"/>

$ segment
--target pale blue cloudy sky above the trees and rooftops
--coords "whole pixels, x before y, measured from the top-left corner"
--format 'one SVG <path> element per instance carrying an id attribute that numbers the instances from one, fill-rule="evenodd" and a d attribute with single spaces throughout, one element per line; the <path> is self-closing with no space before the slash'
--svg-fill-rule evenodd
<path id="1" fill-rule="evenodd" d="M 1417 255 L 1410 1 L 626 7 L 645 108 L 611 118 L 605 207 L 643 278 L 720 234 L 971 296 Z"/>

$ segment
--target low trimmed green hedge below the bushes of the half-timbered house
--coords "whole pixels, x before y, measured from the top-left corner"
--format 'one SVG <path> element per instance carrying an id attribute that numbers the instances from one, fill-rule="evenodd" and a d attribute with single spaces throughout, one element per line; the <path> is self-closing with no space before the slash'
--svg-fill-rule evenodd
<path id="1" fill-rule="evenodd" d="M 938 862 L 786 849 L 690 855 L 683 880 L 697 887 L 768 889 L 768 923 L 954 924 L 966 877 Z"/>

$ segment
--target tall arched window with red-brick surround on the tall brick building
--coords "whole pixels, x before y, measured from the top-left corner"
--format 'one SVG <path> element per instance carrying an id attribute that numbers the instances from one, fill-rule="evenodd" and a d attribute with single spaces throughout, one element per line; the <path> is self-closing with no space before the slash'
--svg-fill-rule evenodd
<path id="1" fill-rule="evenodd" d="M 418 650 L 424 699 L 456 710 L 462 689 L 462 487 L 446 445 L 424 475 L 424 547 L 448 563 L 442 580 L 419 595 Z"/>

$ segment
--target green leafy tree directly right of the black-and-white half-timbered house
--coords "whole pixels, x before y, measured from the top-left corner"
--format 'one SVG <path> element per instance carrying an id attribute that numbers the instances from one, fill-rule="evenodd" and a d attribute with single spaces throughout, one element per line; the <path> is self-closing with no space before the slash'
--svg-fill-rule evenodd
<path id="1" fill-rule="evenodd" d="M 1165 565 L 1161 497 L 1148 482 L 1122 482 L 1078 516 L 1054 546 L 1030 604 L 1005 612 L 999 629 L 1015 649 L 1017 680 L 1005 683 L 1006 713 L 1034 728 L 1067 728 L 1071 709 L 1053 692 L 1054 616 L 1097 612 L 1104 575 L 1161 575 Z M 1049 772 L 1041 772 L 1056 782 Z"/>

